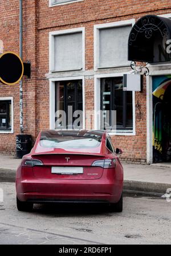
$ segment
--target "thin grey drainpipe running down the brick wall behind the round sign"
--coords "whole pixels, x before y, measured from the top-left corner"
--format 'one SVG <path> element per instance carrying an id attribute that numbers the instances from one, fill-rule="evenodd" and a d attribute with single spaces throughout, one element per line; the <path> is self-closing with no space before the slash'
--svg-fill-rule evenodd
<path id="1" fill-rule="evenodd" d="M 19 0 L 19 57 L 23 59 L 23 1 Z M 23 81 L 19 82 L 20 133 L 23 134 Z"/>

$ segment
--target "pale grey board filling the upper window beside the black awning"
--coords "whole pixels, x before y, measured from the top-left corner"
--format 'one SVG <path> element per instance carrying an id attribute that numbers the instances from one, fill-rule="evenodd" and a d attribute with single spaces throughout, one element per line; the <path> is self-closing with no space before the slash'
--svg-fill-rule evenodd
<path id="1" fill-rule="evenodd" d="M 129 65 L 128 37 L 132 26 L 99 29 L 97 67 Z"/>

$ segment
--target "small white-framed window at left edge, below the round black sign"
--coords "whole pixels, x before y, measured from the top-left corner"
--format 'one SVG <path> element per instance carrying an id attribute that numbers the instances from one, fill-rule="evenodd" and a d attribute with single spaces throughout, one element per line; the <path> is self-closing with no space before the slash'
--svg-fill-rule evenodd
<path id="1" fill-rule="evenodd" d="M 14 132 L 13 97 L 0 97 L 0 134 Z"/>

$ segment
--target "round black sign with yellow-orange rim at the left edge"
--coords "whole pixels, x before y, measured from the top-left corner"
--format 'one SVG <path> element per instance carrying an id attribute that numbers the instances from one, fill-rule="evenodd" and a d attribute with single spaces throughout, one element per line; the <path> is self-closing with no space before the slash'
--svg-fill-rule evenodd
<path id="1" fill-rule="evenodd" d="M 5 85 L 15 85 L 24 73 L 24 65 L 21 58 L 11 51 L 0 55 L 0 82 Z"/>

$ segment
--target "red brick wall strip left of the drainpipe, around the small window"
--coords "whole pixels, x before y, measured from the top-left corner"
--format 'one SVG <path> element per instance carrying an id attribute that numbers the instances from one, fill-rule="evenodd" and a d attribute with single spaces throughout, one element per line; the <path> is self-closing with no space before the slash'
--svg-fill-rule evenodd
<path id="1" fill-rule="evenodd" d="M 1 1 L 0 5 L 0 39 L 3 41 L 4 51 L 19 53 L 19 5 L 18 1 Z M 14 97 L 14 127 L 19 132 L 19 87 L 0 84 L 0 97 Z M 14 151 L 14 134 L 0 134 L 0 151 L 11 153 Z"/>

